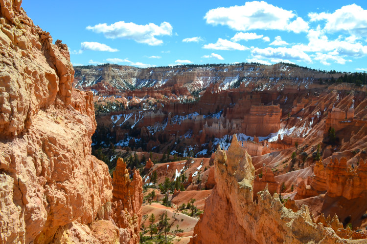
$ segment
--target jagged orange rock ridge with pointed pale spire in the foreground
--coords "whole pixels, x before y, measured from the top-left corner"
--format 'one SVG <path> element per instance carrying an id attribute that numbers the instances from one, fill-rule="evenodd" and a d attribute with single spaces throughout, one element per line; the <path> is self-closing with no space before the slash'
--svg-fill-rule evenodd
<path id="1" fill-rule="evenodd" d="M 284 207 L 265 189 L 252 201 L 252 159 L 233 136 L 228 152 L 216 151 L 215 187 L 195 226 L 191 244 L 214 243 L 348 243 L 332 228 L 315 224 L 307 206 Z M 216 221 L 213 221 L 216 220 Z"/>

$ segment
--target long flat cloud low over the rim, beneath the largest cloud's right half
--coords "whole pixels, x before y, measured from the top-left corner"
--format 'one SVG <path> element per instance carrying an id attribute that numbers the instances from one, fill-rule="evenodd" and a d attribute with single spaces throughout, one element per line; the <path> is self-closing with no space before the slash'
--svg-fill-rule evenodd
<path id="1" fill-rule="evenodd" d="M 251 54 L 253 57 L 258 59 L 287 59 L 287 60 L 297 60 L 304 62 L 312 62 L 310 56 L 305 52 L 295 49 L 295 48 L 287 48 L 287 47 L 267 47 L 264 49 L 255 47 L 251 50 Z"/>

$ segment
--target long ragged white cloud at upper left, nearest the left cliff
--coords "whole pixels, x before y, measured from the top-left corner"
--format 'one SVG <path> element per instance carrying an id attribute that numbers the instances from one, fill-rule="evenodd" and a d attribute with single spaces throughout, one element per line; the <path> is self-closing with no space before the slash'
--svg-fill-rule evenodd
<path id="1" fill-rule="evenodd" d="M 145 43 L 151 46 L 163 43 L 163 41 L 157 39 L 156 36 L 172 35 L 172 26 L 168 22 L 162 22 L 161 25 L 158 26 L 153 23 L 139 25 L 133 22 L 125 23 L 124 21 L 119 21 L 110 25 L 103 23 L 87 26 L 87 30 L 103 33 L 106 38 L 131 39 L 138 43 Z"/>

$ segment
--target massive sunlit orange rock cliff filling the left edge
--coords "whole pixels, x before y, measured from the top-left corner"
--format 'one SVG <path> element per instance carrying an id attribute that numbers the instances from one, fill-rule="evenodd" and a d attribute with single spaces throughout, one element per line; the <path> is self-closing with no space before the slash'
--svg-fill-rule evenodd
<path id="1" fill-rule="evenodd" d="M 0 0 L 0 243 L 118 243 L 92 93 L 21 2 Z"/>

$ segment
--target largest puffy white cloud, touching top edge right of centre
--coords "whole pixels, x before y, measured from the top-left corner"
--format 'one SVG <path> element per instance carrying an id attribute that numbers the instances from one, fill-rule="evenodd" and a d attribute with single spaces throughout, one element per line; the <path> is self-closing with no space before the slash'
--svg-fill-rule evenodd
<path id="1" fill-rule="evenodd" d="M 309 29 L 308 24 L 296 14 L 265 1 L 246 2 L 243 6 L 219 7 L 209 10 L 204 19 L 212 25 L 228 25 L 237 31 L 254 29 L 287 30 L 299 33 Z"/>

